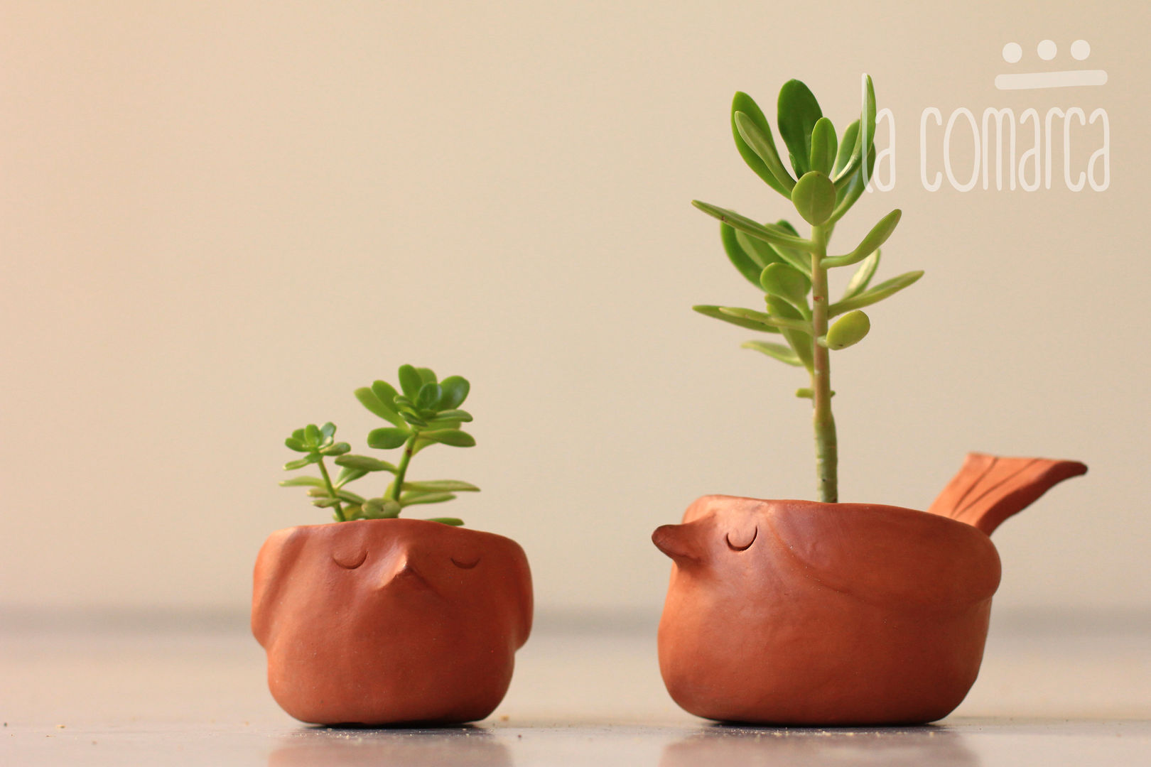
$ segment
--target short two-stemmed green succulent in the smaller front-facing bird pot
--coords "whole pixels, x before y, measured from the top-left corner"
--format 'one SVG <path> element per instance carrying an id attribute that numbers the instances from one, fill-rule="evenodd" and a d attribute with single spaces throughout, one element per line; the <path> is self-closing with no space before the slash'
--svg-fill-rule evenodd
<path id="1" fill-rule="evenodd" d="M 467 399 L 471 389 L 466 378 L 449 376 L 437 381 L 429 368 L 414 368 L 405 365 L 399 368 L 399 391 L 386 381 L 376 381 L 371 386 L 356 390 L 356 399 L 367 409 L 390 427 L 373 429 L 367 435 L 368 447 L 378 450 L 403 448 L 397 463 L 389 463 L 371 455 L 351 454 L 351 445 L 335 442 L 336 425 L 325 423 L 317 427 L 310 423 L 303 429 L 296 429 L 284 444 L 304 458 L 288 461 L 284 469 L 292 471 L 315 463 L 320 476 L 300 476 L 284 480 L 283 486 L 305 486 L 312 504 L 321 508 L 330 508 L 337 522 L 350 520 L 386 520 L 399 516 L 405 506 L 417 504 L 439 504 L 451 500 L 457 492 L 479 490 L 468 482 L 458 480 L 429 480 L 412 482 L 407 480 L 407 468 L 412 457 L 430 445 L 450 445 L 452 447 L 472 447 L 475 439 L 466 431 L 460 431 L 462 423 L 472 420 L 459 406 Z M 340 474 L 333 481 L 325 465 L 325 459 L 331 458 L 340 467 Z M 374 471 L 394 475 L 383 494 L 378 498 L 365 498 L 346 489 L 350 482 L 365 477 Z M 463 520 L 453 516 L 432 517 L 433 522 L 444 524 L 463 524 Z"/>

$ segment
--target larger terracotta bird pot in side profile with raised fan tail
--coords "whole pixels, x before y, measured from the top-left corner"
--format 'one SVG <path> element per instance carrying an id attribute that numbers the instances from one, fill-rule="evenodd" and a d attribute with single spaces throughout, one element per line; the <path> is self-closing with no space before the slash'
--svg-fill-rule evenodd
<path id="1" fill-rule="evenodd" d="M 707 719 L 904 724 L 975 682 L 999 555 L 988 535 L 1074 461 L 971 453 L 927 512 L 704 496 L 651 536 L 671 697 Z"/>

